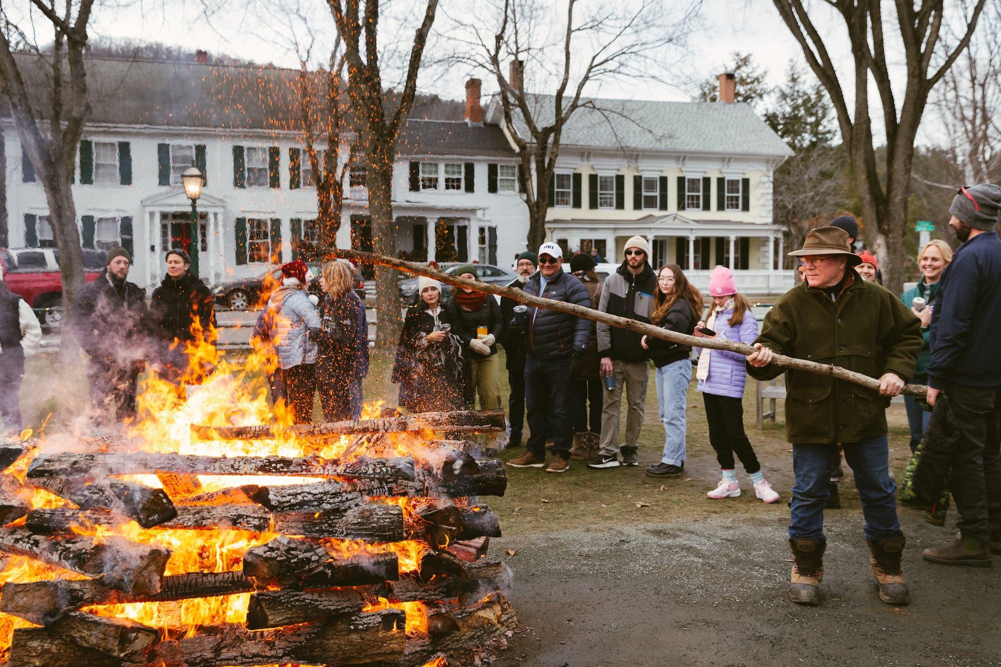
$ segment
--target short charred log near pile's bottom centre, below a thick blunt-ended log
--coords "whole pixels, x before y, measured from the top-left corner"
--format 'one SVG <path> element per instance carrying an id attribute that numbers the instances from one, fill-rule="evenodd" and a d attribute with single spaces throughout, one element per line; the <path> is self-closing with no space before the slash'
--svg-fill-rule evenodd
<path id="1" fill-rule="evenodd" d="M 329 591 L 265 591 L 250 597 L 246 626 L 249 630 L 308 623 L 331 616 L 357 614 L 374 599 L 375 588 L 339 588 Z"/>

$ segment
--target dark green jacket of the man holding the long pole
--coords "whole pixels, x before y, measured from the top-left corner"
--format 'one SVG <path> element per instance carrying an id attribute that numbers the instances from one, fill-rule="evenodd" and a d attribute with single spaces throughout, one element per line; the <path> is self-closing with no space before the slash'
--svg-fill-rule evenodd
<path id="1" fill-rule="evenodd" d="M 787 291 L 765 315 L 756 343 L 871 378 L 892 372 L 909 380 L 923 343 L 920 320 L 883 286 L 849 271 L 837 302 L 806 282 Z M 784 372 L 774 365 L 747 368 L 757 380 Z M 785 374 L 790 443 L 856 443 L 886 435 L 889 401 L 876 390 L 806 371 Z"/>

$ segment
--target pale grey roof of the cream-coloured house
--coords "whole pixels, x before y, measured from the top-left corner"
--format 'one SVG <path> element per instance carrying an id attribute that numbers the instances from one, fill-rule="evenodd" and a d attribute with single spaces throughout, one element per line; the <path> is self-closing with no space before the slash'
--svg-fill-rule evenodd
<path id="1" fill-rule="evenodd" d="M 554 118 L 554 96 L 530 94 L 529 103 L 540 125 Z M 719 102 L 656 102 L 630 99 L 582 98 L 564 127 L 561 143 L 585 148 L 712 152 L 784 157 L 792 149 L 748 104 Z M 489 122 L 503 122 L 494 98 Z M 516 128 L 530 138 L 519 113 Z"/>

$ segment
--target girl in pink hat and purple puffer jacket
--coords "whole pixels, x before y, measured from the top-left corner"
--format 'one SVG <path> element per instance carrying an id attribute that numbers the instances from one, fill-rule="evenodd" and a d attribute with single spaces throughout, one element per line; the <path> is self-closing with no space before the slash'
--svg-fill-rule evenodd
<path id="1" fill-rule="evenodd" d="M 694 336 L 753 344 L 758 338 L 758 320 L 751 312 L 751 304 L 737 292 L 737 283 L 729 268 L 717 266 L 713 269 L 709 275 L 709 293 L 713 297 L 709 320 L 700 321 Z M 706 336 L 699 330 L 702 327 L 713 329 L 716 335 Z M 742 400 L 747 380 L 744 363 L 744 355 L 726 350 L 703 349 L 699 357 L 696 377 L 706 403 L 709 442 L 716 450 L 716 460 L 723 469 L 720 484 L 706 495 L 714 500 L 741 495 L 741 486 L 734 471 L 736 454 L 754 483 L 755 495 L 766 503 L 774 503 L 779 500 L 779 494 L 765 481 L 758 457 L 744 433 Z"/>

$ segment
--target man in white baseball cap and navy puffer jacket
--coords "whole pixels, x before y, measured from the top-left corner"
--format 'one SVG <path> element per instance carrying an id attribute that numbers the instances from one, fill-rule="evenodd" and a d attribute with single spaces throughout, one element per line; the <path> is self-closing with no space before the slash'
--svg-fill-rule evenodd
<path id="1" fill-rule="evenodd" d="M 525 292 L 591 307 L 584 283 L 563 269 L 563 250 L 553 242 L 539 248 L 539 270 L 529 278 Z M 547 473 L 566 473 L 574 439 L 572 378 L 591 339 L 590 319 L 546 308 L 530 307 L 528 322 L 512 321 L 514 335 L 525 337 L 525 403 L 532 434 L 524 456 L 509 466 L 542 468 L 546 465 L 546 435 L 553 438 L 553 460 Z"/>

